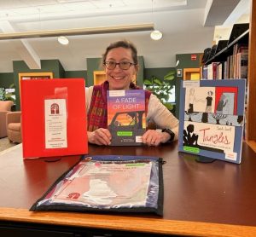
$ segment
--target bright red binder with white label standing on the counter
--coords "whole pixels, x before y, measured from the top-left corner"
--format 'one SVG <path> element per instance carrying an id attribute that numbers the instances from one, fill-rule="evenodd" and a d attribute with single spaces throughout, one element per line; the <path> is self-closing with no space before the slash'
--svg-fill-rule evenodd
<path id="1" fill-rule="evenodd" d="M 21 80 L 23 158 L 88 153 L 83 78 Z"/>

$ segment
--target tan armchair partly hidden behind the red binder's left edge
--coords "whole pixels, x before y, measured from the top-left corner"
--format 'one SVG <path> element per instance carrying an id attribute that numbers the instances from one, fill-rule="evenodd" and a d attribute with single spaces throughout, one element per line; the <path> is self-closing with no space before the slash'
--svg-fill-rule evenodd
<path id="1" fill-rule="evenodd" d="M 6 114 L 6 127 L 9 142 L 22 142 L 21 136 L 21 112 L 9 112 Z"/>

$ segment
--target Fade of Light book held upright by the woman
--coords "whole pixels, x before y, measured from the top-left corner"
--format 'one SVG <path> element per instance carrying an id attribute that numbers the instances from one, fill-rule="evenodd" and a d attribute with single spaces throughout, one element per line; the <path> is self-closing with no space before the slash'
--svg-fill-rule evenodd
<path id="1" fill-rule="evenodd" d="M 108 90 L 107 100 L 111 146 L 142 145 L 146 130 L 145 91 Z"/>

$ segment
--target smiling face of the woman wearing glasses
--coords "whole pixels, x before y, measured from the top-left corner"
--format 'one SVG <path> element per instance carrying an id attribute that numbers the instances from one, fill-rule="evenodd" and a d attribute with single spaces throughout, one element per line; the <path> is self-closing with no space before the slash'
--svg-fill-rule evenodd
<path id="1" fill-rule="evenodd" d="M 131 49 L 122 47 L 109 50 L 106 61 L 114 61 L 116 63 L 128 61 L 134 63 L 131 56 Z M 129 90 L 131 79 L 136 74 L 137 67 L 131 65 L 127 70 L 123 70 L 119 65 L 116 65 L 113 70 L 110 70 L 105 66 L 105 71 L 109 83 L 109 90 Z"/>

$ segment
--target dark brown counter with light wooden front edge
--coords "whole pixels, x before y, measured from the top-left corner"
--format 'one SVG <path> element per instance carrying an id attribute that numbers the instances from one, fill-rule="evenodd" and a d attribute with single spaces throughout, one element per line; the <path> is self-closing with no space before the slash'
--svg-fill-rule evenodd
<path id="1" fill-rule="evenodd" d="M 85 232 L 94 228 L 104 233 L 118 230 L 131 236 L 138 236 L 138 232 L 139 236 L 147 233 L 154 236 L 256 236 L 256 154 L 247 144 L 243 145 L 241 165 L 219 160 L 211 164 L 197 163 L 194 155 L 177 153 L 177 143 L 160 147 L 90 145 L 89 152 L 154 155 L 166 160 L 163 165 L 164 217 L 28 211 L 63 172 L 79 161 L 79 156 L 62 157 L 55 162 L 23 160 L 19 145 L 0 153 L 1 225 L 44 224 L 45 228 L 60 226 L 72 228 L 72 231 L 84 228 Z"/>

